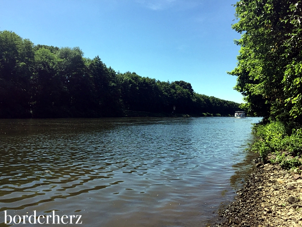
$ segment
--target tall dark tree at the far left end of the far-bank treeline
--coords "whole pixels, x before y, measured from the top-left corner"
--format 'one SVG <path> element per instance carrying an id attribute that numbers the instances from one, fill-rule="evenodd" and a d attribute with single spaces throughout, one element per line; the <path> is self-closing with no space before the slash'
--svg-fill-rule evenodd
<path id="1" fill-rule="evenodd" d="M 0 118 L 30 117 L 33 43 L 11 31 L 0 31 Z"/>

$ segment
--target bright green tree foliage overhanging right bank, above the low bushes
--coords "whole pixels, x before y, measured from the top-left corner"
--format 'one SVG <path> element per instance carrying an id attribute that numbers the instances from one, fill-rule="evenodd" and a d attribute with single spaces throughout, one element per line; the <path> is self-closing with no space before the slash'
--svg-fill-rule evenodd
<path id="1" fill-rule="evenodd" d="M 235 4 L 242 34 L 235 89 L 250 115 L 270 121 L 302 122 L 302 2 L 241 0 Z"/>

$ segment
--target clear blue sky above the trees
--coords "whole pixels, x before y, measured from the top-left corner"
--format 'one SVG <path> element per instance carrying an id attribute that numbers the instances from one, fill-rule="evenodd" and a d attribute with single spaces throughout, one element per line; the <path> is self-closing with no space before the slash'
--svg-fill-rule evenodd
<path id="1" fill-rule="evenodd" d="M 107 67 L 243 102 L 235 91 L 237 0 L 0 0 L 0 31 L 34 44 L 79 46 Z"/>

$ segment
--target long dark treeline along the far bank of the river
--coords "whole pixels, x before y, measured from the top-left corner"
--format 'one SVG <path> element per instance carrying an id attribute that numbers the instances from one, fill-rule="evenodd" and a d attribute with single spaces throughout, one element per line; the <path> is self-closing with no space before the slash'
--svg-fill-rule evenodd
<path id="1" fill-rule="evenodd" d="M 0 118 L 121 117 L 125 110 L 232 115 L 238 103 L 197 94 L 185 81 L 119 73 L 79 47 L 34 45 L 0 31 Z"/>

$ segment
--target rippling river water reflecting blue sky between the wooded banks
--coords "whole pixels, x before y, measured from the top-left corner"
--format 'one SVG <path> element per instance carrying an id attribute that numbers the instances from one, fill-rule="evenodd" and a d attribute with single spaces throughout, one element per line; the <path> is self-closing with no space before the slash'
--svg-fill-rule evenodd
<path id="1" fill-rule="evenodd" d="M 251 169 L 259 120 L 0 120 L 0 226 L 5 211 L 43 222 L 53 210 L 61 225 L 205 226 Z"/>

